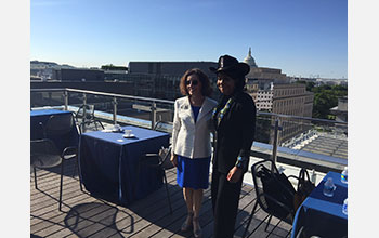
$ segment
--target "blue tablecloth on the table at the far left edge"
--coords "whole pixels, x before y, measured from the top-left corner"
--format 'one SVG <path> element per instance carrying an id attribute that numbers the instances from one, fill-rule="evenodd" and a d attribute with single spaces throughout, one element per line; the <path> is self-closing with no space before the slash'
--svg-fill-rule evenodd
<path id="1" fill-rule="evenodd" d="M 73 114 L 68 110 L 45 109 L 45 110 L 31 110 L 30 111 L 30 140 L 43 138 L 43 129 L 40 125 L 45 124 L 52 115 L 58 116 L 64 114 Z M 55 144 L 55 146 L 62 153 L 64 148 L 68 146 L 78 146 L 79 133 L 75 124 L 73 124 L 71 131 L 67 136 L 49 137 Z"/>

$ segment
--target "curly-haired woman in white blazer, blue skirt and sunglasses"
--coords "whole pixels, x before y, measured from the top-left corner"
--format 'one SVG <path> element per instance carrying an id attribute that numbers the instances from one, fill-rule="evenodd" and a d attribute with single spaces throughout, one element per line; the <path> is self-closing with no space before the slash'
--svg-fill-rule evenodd
<path id="1" fill-rule="evenodd" d="M 184 97 L 174 105 L 171 162 L 178 168 L 177 182 L 183 188 L 188 215 L 182 230 L 193 227 L 201 236 L 198 222 L 202 191 L 209 184 L 211 117 L 217 102 L 209 98 L 210 81 L 200 69 L 188 69 L 180 81 Z"/>

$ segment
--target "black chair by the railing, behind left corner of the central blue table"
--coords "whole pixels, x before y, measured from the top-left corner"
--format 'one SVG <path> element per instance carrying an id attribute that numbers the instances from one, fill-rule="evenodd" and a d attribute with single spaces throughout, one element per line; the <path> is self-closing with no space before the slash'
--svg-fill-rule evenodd
<path id="1" fill-rule="evenodd" d="M 99 128 L 104 129 L 103 123 L 95 119 L 94 116 L 94 105 L 91 104 L 84 104 L 81 105 L 78 110 L 75 114 L 75 120 L 77 125 L 79 127 L 80 134 L 82 132 L 86 132 L 91 124 L 94 125 L 95 130 L 97 131 Z"/>

